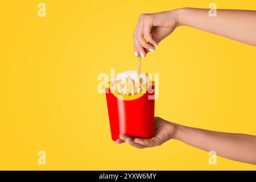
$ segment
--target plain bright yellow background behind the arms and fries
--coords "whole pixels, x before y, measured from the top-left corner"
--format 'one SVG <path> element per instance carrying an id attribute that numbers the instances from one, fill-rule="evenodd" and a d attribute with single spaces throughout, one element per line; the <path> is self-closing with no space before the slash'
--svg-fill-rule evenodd
<path id="1" fill-rule="evenodd" d="M 46 17 L 38 3 L 46 3 Z M 176 140 L 139 150 L 110 139 L 97 75 L 136 69 L 139 14 L 212 1 L 0 1 L 0 169 L 253 169 Z M 256 2 L 216 0 L 219 9 Z M 179 27 L 142 60 L 159 73 L 155 115 L 181 125 L 256 134 L 256 48 Z M 38 151 L 47 164 L 38 164 Z"/>

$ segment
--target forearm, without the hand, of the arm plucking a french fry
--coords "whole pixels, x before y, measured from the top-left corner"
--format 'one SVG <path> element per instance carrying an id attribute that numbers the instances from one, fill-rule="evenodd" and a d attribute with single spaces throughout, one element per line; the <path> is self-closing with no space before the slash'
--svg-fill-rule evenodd
<path id="1" fill-rule="evenodd" d="M 256 11 L 217 9 L 216 17 L 210 17 L 208 12 L 209 9 L 178 9 L 179 26 L 198 28 L 256 46 Z"/>

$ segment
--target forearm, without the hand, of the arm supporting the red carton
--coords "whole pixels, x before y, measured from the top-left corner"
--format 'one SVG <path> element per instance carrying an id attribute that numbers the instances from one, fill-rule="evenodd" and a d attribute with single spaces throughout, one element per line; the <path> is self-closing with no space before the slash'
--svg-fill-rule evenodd
<path id="1" fill-rule="evenodd" d="M 174 139 L 208 152 L 216 151 L 224 158 L 256 164 L 256 136 L 175 126 Z"/>

